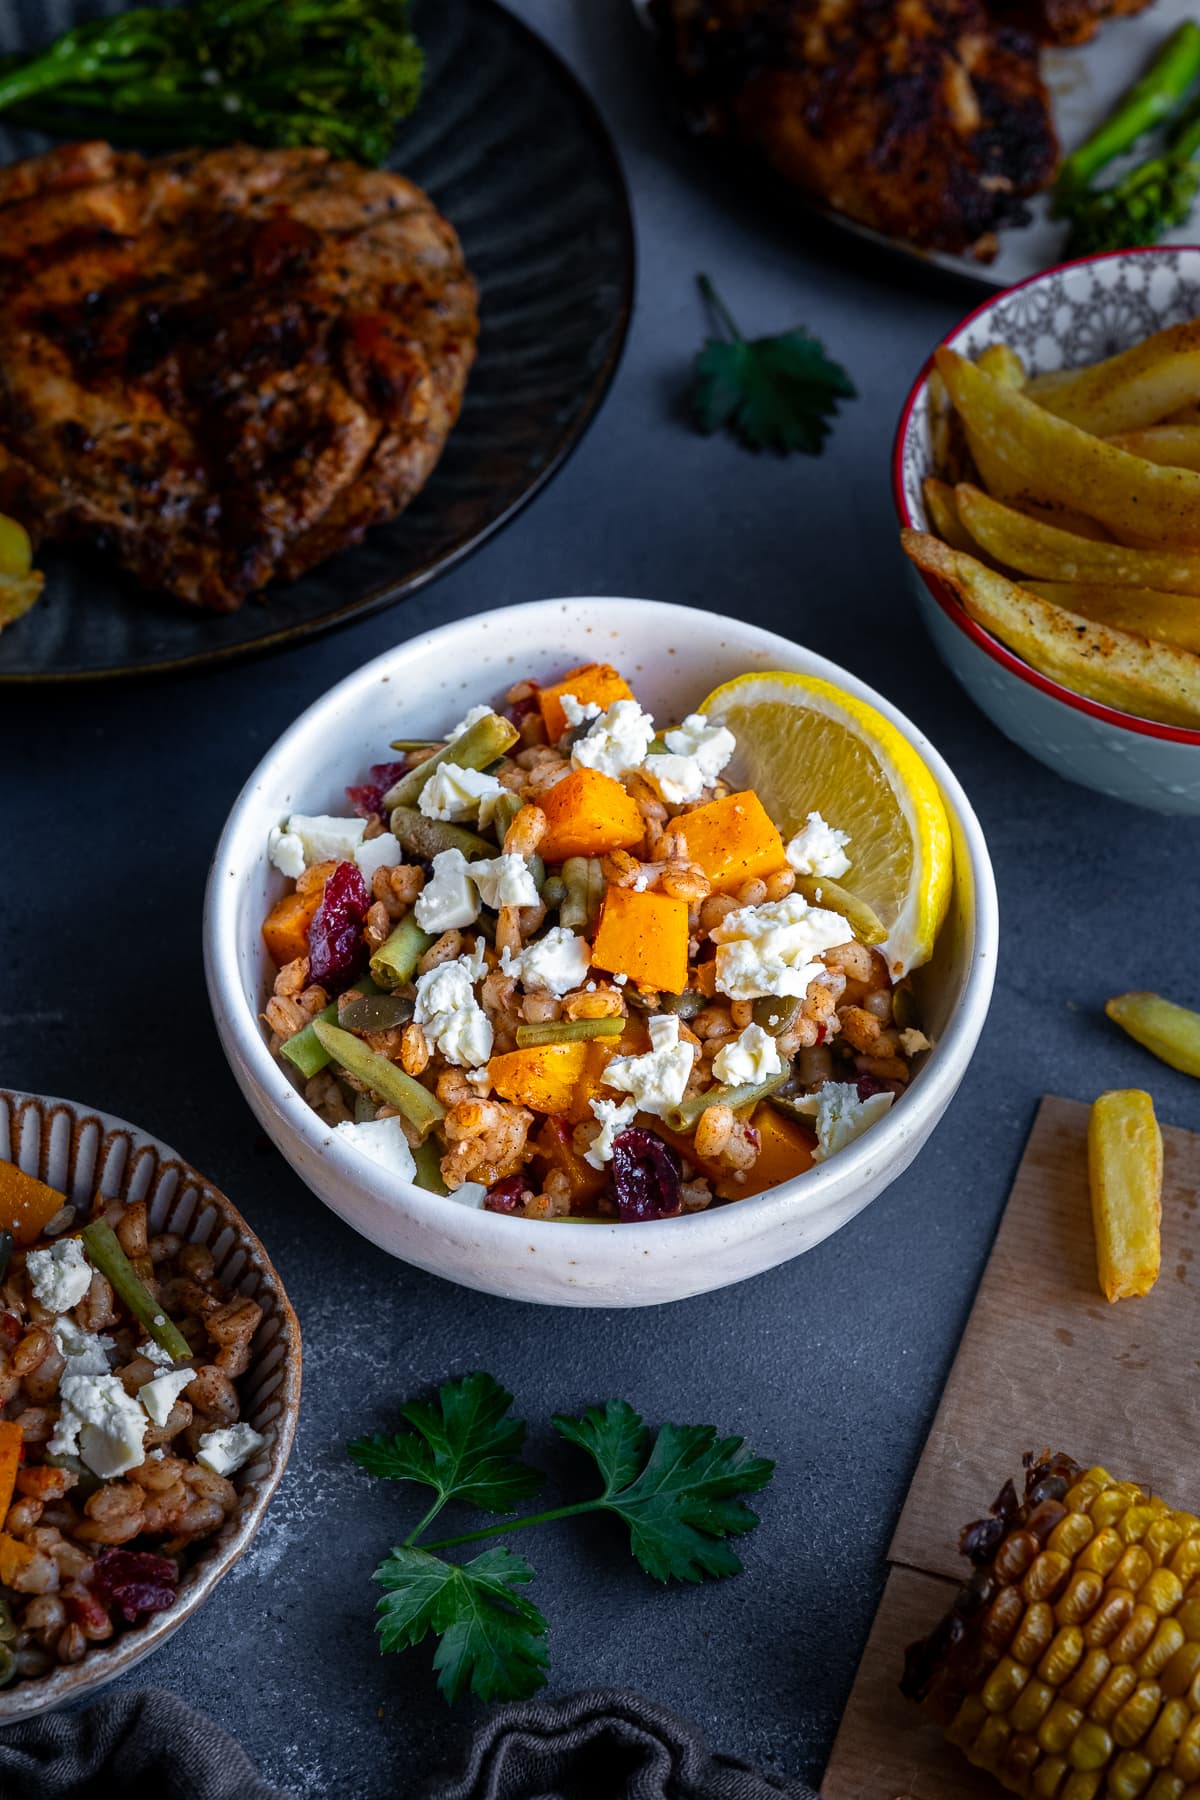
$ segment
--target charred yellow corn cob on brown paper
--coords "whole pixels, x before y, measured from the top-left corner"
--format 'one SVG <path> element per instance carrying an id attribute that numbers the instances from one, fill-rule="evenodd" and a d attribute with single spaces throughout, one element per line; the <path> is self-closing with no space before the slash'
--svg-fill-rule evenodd
<path id="1" fill-rule="evenodd" d="M 1200 1517 L 1043 1453 L 961 1546 L 901 1683 L 950 1742 L 1027 1800 L 1200 1800 Z"/>

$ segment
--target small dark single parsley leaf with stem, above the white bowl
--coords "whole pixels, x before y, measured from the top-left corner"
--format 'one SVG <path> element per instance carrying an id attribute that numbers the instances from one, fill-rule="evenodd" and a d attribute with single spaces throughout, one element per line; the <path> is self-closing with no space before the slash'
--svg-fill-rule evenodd
<path id="1" fill-rule="evenodd" d="M 725 427 L 748 450 L 820 455 L 838 401 L 856 398 L 846 369 L 804 326 L 745 338 L 707 275 L 700 292 L 725 337 L 705 338 L 693 365 L 696 427 L 709 436 Z"/>

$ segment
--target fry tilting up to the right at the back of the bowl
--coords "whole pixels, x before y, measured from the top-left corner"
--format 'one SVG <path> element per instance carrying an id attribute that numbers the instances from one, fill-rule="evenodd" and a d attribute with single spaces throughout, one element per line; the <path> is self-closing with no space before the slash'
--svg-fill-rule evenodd
<path id="1" fill-rule="evenodd" d="M 1038 405 L 1085 432 L 1139 432 L 1200 398 L 1200 319 L 1168 326 L 1065 380 L 1029 385 Z"/>

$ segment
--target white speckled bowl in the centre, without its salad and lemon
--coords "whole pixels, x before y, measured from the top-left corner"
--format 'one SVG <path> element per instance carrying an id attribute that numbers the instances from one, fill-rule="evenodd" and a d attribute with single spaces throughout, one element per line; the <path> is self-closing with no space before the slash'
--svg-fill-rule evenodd
<path id="1" fill-rule="evenodd" d="M 345 785 L 389 740 L 435 736 L 468 706 L 522 675 L 549 680 L 587 657 L 617 664 L 644 706 L 682 716 L 747 670 L 801 670 L 887 715 L 921 751 L 950 814 L 955 900 L 925 972 L 936 1040 L 912 1089 L 822 1168 L 712 1211 L 655 1224 L 525 1222 L 428 1193 L 372 1166 L 297 1093 L 270 1055 L 259 1012 L 272 967 L 261 923 L 284 880 L 266 837 L 291 808 L 338 812 Z M 997 956 L 997 896 L 979 821 L 937 751 L 846 670 L 736 619 L 644 599 L 545 599 L 396 644 L 315 702 L 268 751 L 234 803 L 205 898 L 205 970 L 225 1055 L 263 1129 L 302 1181 L 392 1256 L 466 1287 L 569 1307 L 682 1300 L 770 1269 L 853 1219 L 909 1166 L 946 1105 L 982 1030 Z"/>

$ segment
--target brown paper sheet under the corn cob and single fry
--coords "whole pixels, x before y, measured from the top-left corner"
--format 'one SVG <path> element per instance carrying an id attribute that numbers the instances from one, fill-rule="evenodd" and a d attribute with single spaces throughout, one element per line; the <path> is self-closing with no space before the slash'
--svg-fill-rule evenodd
<path id="1" fill-rule="evenodd" d="M 905 1645 L 970 1571 L 959 1528 L 984 1517 L 1024 1451 L 1148 1483 L 1200 1508 L 1196 1372 L 1200 1136 L 1164 1127 L 1162 1274 L 1142 1300 L 1096 1285 L 1088 1109 L 1043 1100 L 896 1535 L 824 1800 L 997 1800 L 1000 1787 L 898 1692 Z"/>

